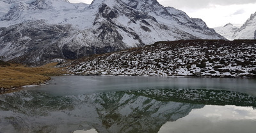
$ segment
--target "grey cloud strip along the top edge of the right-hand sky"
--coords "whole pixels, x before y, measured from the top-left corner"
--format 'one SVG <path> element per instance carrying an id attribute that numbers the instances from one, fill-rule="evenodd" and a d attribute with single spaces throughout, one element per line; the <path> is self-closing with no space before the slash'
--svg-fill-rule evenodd
<path id="1" fill-rule="evenodd" d="M 231 5 L 256 3 L 255 0 L 158 0 L 164 6 L 175 8 L 207 8 L 211 5 Z"/>

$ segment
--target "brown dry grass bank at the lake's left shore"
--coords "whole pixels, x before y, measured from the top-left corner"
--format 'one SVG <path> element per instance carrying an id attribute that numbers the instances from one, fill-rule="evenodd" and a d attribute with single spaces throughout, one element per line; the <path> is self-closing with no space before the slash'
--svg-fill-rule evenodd
<path id="1" fill-rule="evenodd" d="M 20 64 L 0 67 L 0 88 L 22 87 L 24 85 L 38 85 L 50 80 L 49 76 L 65 73 L 60 68 L 55 68 L 56 63 L 42 67 L 26 67 Z"/>

